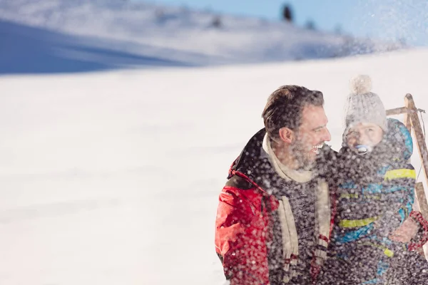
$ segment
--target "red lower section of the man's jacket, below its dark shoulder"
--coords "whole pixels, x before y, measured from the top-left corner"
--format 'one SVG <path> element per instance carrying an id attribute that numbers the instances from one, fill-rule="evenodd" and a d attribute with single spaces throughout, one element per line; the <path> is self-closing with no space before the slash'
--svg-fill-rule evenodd
<path id="1" fill-rule="evenodd" d="M 243 173 L 235 175 L 244 177 Z M 248 177 L 245 181 L 250 182 Z M 277 209 L 277 200 L 265 198 L 254 186 L 242 189 L 226 185 L 220 193 L 215 220 L 215 250 L 223 261 L 230 284 L 269 284 L 266 242 L 270 241 L 267 205 Z M 263 201 L 263 199 L 266 199 Z"/>

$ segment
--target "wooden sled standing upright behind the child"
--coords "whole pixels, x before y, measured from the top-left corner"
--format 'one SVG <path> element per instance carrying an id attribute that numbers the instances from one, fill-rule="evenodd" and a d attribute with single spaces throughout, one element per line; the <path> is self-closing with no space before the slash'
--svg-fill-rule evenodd
<path id="1" fill-rule="evenodd" d="M 404 97 L 404 107 L 387 110 L 387 115 L 404 114 L 404 125 L 406 125 L 414 139 L 416 139 L 417 150 L 419 151 L 419 157 L 421 158 L 425 181 L 428 185 L 428 148 L 427 143 L 425 142 L 421 122 L 419 121 L 419 116 L 417 114 L 419 111 L 424 113 L 424 110 L 419 110 L 416 108 L 416 105 L 414 105 L 413 96 L 411 94 L 407 94 Z M 414 199 L 414 210 L 421 212 L 424 219 L 428 221 L 428 202 L 424 191 L 424 184 L 422 182 L 417 182 L 414 187 L 414 191 L 416 198 Z M 425 252 L 421 251 L 420 253 L 425 254 L 425 257 L 427 257 L 427 244 L 425 244 L 424 248 Z"/>

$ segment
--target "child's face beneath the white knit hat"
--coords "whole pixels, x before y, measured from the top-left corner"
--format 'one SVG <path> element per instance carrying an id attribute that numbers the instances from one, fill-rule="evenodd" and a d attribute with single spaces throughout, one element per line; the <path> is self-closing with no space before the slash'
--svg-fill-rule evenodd
<path id="1" fill-rule="evenodd" d="M 383 130 L 379 125 L 359 123 L 350 128 L 346 135 L 346 143 L 351 150 L 358 152 L 360 146 L 372 148 L 382 141 Z"/>

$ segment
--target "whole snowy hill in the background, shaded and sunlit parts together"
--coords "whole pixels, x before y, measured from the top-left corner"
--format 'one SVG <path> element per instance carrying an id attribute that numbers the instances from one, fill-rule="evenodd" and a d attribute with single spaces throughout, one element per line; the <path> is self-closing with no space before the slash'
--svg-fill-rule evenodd
<path id="1" fill-rule="evenodd" d="M 295 61 L 400 47 L 122 0 L 3 0 L 0 20 L 0 74 Z"/>

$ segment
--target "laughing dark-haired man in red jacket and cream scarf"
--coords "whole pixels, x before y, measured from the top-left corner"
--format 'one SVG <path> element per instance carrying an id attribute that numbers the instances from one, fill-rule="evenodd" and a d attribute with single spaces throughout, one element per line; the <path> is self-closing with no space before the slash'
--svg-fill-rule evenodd
<path id="1" fill-rule="evenodd" d="M 275 90 L 263 110 L 265 128 L 230 167 L 215 247 L 231 285 L 315 281 L 335 204 L 317 167 L 321 149 L 330 153 L 323 147 L 330 140 L 323 105 L 320 91 Z"/>

